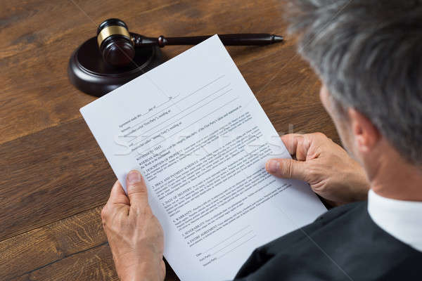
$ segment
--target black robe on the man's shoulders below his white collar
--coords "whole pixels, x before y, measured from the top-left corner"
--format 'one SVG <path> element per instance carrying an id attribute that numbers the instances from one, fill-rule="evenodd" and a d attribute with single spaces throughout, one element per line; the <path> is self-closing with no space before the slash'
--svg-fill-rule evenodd
<path id="1" fill-rule="evenodd" d="M 379 228 L 367 202 L 357 202 L 255 249 L 236 275 L 246 280 L 422 280 L 422 252 Z"/>

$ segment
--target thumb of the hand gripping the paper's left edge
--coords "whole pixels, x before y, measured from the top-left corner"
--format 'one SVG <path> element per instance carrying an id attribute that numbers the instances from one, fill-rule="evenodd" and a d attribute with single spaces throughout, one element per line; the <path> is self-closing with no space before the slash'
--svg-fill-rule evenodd
<path id="1" fill-rule="evenodd" d="M 146 190 L 145 181 L 141 176 L 141 173 L 136 170 L 132 170 L 127 174 L 127 195 L 129 196 L 130 204 L 134 207 L 143 207 L 148 204 L 148 192 Z"/>

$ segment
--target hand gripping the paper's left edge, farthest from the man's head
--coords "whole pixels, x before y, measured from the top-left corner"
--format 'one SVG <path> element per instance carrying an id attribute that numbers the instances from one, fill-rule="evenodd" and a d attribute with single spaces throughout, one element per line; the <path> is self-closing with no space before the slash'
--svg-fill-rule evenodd
<path id="1" fill-rule="evenodd" d="M 127 195 L 116 181 L 101 212 L 103 228 L 122 281 L 164 280 L 163 233 L 148 204 L 146 185 L 138 171 L 127 176 Z"/>

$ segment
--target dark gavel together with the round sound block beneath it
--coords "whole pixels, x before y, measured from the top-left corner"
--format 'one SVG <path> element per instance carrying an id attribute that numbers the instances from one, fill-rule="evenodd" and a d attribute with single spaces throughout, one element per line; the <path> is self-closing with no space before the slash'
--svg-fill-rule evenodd
<path id="1" fill-rule="evenodd" d="M 226 46 L 268 45 L 283 41 L 274 34 L 219 34 Z M 103 96 L 165 61 L 160 48 L 195 45 L 211 37 L 145 37 L 129 32 L 117 18 L 104 20 L 96 37 L 79 45 L 70 56 L 68 77 L 80 91 Z M 99 50 L 99 51 L 98 51 Z"/>

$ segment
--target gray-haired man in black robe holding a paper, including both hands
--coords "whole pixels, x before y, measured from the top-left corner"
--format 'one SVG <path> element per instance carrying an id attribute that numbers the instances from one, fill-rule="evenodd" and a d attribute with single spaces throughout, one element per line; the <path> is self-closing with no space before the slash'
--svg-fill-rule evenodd
<path id="1" fill-rule="evenodd" d="M 288 134 L 281 139 L 295 159 L 270 159 L 266 169 L 339 207 L 245 256 L 235 279 L 420 280 L 422 3 L 288 2 L 299 52 L 321 78 L 347 152 L 322 133 Z M 164 233 L 138 171 L 127 193 L 117 181 L 102 212 L 117 273 L 162 281 Z"/>

